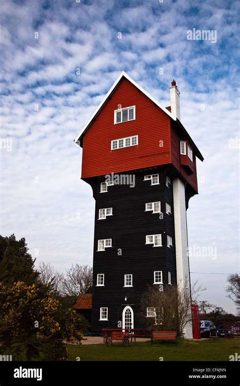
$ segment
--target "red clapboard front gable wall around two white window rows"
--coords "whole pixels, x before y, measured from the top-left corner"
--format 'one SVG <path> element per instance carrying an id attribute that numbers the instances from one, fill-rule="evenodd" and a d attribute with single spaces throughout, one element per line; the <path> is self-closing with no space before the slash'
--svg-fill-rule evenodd
<path id="1" fill-rule="evenodd" d="M 136 119 L 114 124 L 119 106 L 136 106 Z M 135 135 L 137 146 L 111 150 L 112 140 Z M 170 117 L 123 79 L 84 135 L 82 178 L 168 164 L 170 146 Z"/>

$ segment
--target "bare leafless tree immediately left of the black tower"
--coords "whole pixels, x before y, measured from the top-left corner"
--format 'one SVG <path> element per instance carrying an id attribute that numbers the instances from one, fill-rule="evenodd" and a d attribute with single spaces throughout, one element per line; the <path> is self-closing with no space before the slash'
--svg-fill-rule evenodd
<path id="1" fill-rule="evenodd" d="M 61 278 L 61 294 L 75 296 L 91 294 L 93 283 L 93 269 L 88 265 L 72 265 Z"/>

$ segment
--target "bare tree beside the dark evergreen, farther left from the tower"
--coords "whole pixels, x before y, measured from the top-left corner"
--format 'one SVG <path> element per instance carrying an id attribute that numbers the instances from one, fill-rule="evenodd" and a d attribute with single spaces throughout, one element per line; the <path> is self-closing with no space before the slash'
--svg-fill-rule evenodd
<path id="1" fill-rule="evenodd" d="M 50 263 L 40 262 L 37 268 L 39 281 L 48 288 L 50 292 L 59 293 L 62 274 L 59 273 Z"/>

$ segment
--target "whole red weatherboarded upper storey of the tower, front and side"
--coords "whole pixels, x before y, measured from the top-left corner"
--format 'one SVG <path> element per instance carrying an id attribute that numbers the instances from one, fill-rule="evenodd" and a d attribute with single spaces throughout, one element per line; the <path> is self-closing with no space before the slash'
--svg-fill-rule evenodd
<path id="1" fill-rule="evenodd" d="M 114 110 L 130 106 L 135 119 L 114 124 Z M 112 140 L 131 136 L 138 136 L 138 145 L 111 150 Z M 197 191 L 195 155 L 203 160 L 201 153 L 181 123 L 125 76 L 76 140 L 83 147 L 82 178 L 173 164 Z M 180 140 L 193 150 L 192 174 L 182 170 Z"/>

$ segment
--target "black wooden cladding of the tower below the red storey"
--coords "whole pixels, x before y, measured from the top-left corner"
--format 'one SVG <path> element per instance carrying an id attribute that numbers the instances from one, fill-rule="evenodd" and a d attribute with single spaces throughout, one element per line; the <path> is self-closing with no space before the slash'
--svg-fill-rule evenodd
<path id="1" fill-rule="evenodd" d="M 149 174 L 159 174 L 158 185 L 144 181 Z M 125 303 L 134 305 L 134 326 L 144 327 L 139 316 L 140 299 L 147 284 L 153 285 L 154 271 L 163 272 L 164 284 L 168 283 L 168 271 L 172 283 L 176 282 L 173 190 L 172 184 L 166 186 L 166 174 L 164 169 L 137 173 L 135 187 L 113 185 L 104 193 L 99 193 L 104 179 L 90 179 L 96 199 L 92 331 L 116 328 Z M 163 219 L 159 219 L 159 213 L 145 211 L 146 203 L 157 201 L 161 201 Z M 166 202 L 171 205 L 170 215 L 166 213 Z M 112 208 L 113 215 L 99 220 L 99 209 L 103 208 Z M 154 234 L 162 234 L 163 246 L 145 244 L 146 235 Z M 170 248 L 167 235 L 173 239 Z M 107 238 L 112 239 L 112 247 L 97 251 L 98 240 Z M 104 286 L 96 286 L 99 273 L 104 274 Z M 133 287 L 124 287 L 126 274 L 133 275 Z M 108 307 L 108 321 L 99 321 L 100 307 Z"/>

